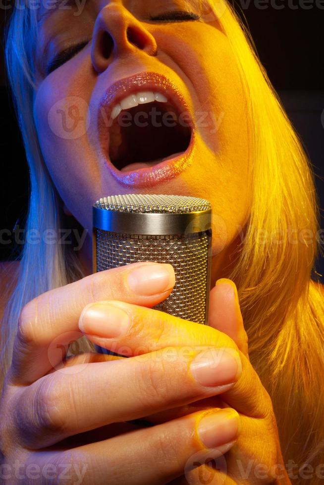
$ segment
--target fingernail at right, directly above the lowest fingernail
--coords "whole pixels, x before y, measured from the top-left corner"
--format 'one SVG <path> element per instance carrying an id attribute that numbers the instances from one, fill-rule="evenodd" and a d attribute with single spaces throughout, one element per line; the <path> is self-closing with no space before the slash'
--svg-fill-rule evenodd
<path id="1" fill-rule="evenodd" d="M 213 348 L 196 355 L 190 370 L 201 386 L 214 387 L 236 382 L 242 373 L 242 364 L 236 350 Z"/>

